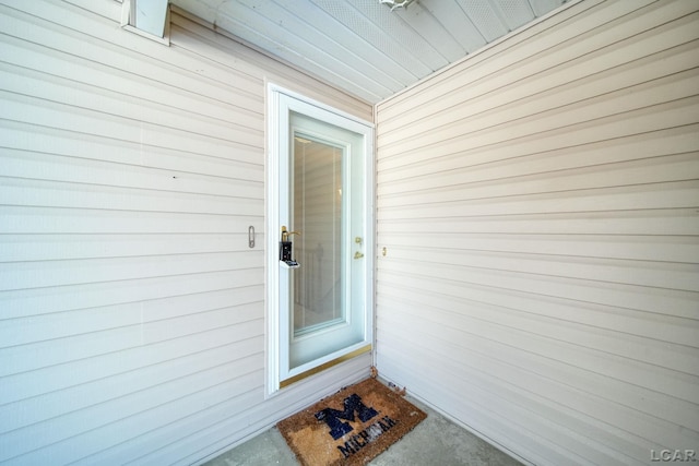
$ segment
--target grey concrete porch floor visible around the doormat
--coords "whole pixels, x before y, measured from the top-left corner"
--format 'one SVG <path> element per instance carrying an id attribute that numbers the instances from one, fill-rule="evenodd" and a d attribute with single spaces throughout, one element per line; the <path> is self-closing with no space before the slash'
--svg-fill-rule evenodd
<path id="1" fill-rule="evenodd" d="M 521 463 L 411 396 L 427 419 L 387 451 L 371 466 L 520 466 Z M 223 453 L 204 466 L 296 466 L 298 462 L 276 428 Z M 321 465 L 318 465 L 321 466 Z"/>

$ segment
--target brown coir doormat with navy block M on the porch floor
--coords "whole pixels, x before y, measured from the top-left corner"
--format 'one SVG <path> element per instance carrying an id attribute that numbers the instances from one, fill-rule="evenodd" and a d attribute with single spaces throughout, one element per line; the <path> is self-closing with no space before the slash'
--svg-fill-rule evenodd
<path id="1" fill-rule="evenodd" d="M 376 379 L 345 387 L 276 425 L 305 466 L 365 465 L 427 415 Z"/>

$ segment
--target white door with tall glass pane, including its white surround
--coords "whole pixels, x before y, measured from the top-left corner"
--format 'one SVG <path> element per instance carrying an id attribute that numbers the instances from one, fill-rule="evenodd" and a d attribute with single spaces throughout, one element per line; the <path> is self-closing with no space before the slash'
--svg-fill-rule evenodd
<path id="1" fill-rule="evenodd" d="M 274 389 L 370 348 L 372 129 L 291 93 L 271 100 Z"/>

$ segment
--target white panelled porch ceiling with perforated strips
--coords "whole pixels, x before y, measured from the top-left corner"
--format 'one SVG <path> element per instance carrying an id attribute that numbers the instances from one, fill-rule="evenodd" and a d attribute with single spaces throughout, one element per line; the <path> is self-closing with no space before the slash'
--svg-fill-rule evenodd
<path id="1" fill-rule="evenodd" d="M 320 80 L 376 104 L 566 0 L 170 0 Z"/>

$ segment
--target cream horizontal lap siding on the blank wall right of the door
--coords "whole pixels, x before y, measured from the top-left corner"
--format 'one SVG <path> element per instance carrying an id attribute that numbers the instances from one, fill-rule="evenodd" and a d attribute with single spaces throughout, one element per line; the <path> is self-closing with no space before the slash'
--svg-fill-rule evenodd
<path id="1" fill-rule="evenodd" d="M 535 464 L 699 450 L 699 12 L 583 1 L 378 107 L 377 363 Z"/>

